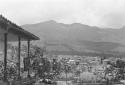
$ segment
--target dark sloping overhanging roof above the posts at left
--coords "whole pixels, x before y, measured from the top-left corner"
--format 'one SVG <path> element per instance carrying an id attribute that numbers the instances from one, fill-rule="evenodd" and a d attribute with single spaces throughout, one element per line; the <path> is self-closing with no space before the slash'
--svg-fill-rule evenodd
<path id="1" fill-rule="evenodd" d="M 16 34 L 21 38 L 28 40 L 39 40 L 39 37 L 36 35 L 22 29 L 20 26 L 17 26 L 15 23 L 12 23 L 2 15 L 0 15 L 0 27 L 8 32 Z"/>

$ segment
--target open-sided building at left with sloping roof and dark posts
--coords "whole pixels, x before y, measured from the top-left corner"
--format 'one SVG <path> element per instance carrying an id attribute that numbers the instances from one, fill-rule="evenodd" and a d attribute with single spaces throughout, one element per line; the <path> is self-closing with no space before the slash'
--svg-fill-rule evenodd
<path id="1" fill-rule="evenodd" d="M 8 42 L 18 42 L 18 76 L 20 77 L 20 51 L 21 41 L 27 41 L 28 55 L 30 49 L 30 41 L 39 40 L 34 34 L 22 29 L 20 26 L 0 15 L 0 57 L 4 58 L 4 80 L 7 80 L 7 44 Z"/>

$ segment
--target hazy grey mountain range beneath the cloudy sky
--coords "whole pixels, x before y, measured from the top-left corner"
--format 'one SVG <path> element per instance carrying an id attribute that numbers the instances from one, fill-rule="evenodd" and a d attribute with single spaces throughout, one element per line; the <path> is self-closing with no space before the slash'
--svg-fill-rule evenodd
<path id="1" fill-rule="evenodd" d="M 99 28 L 80 23 L 63 24 L 46 21 L 26 24 L 22 28 L 40 37 L 39 45 L 49 52 L 125 52 L 125 27 L 120 29 Z"/>

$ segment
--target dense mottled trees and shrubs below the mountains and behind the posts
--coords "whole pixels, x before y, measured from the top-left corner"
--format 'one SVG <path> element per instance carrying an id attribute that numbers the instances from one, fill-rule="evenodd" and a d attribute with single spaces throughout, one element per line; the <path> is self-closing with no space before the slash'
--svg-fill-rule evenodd
<path id="1" fill-rule="evenodd" d="M 11 56 L 13 59 L 17 59 L 17 47 L 9 46 L 14 52 Z M 93 79 L 96 81 L 119 81 L 124 79 L 125 74 L 125 62 L 121 59 L 118 59 L 116 62 L 109 61 L 105 69 L 100 73 L 99 71 L 95 71 L 91 73 L 89 70 L 85 72 L 85 67 L 81 67 L 81 59 L 76 59 L 75 63 L 69 63 L 70 58 L 62 58 L 58 59 L 58 57 L 54 57 L 49 55 L 46 52 L 45 47 L 39 47 L 36 45 L 31 45 L 30 48 L 30 56 L 27 57 L 27 46 L 22 45 L 21 48 L 21 57 L 30 60 L 30 62 L 24 62 L 24 67 L 21 68 L 21 74 L 30 70 L 30 72 L 34 72 L 35 75 L 31 77 L 42 78 L 42 79 L 73 79 L 76 78 L 84 81 L 91 82 Z M 16 57 L 14 57 L 16 56 Z M 106 55 L 105 55 L 106 56 Z M 103 56 L 102 60 L 107 59 L 107 57 Z M 8 61 L 7 65 L 7 75 L 8 79 L 17 79 L 17 63 Z M 88 62 L 88 67 L 90 68 Z M 3 78 L 3 62 L 0 62 L 0 76 Z"/>

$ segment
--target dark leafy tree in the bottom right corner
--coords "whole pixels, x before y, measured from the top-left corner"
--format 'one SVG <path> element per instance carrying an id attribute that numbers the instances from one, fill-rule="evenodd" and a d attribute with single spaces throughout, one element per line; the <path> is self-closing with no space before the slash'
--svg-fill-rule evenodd
<path id="1" fill-rule="evenodd" d="M 112 81 L 119 81 L 124 79 L 124 68 L 125 62 L 123 60 L 118 59 L 116 62 L 112 63 L 109 61 L 106 69 L 105 69 L 105 79 Z"/>

